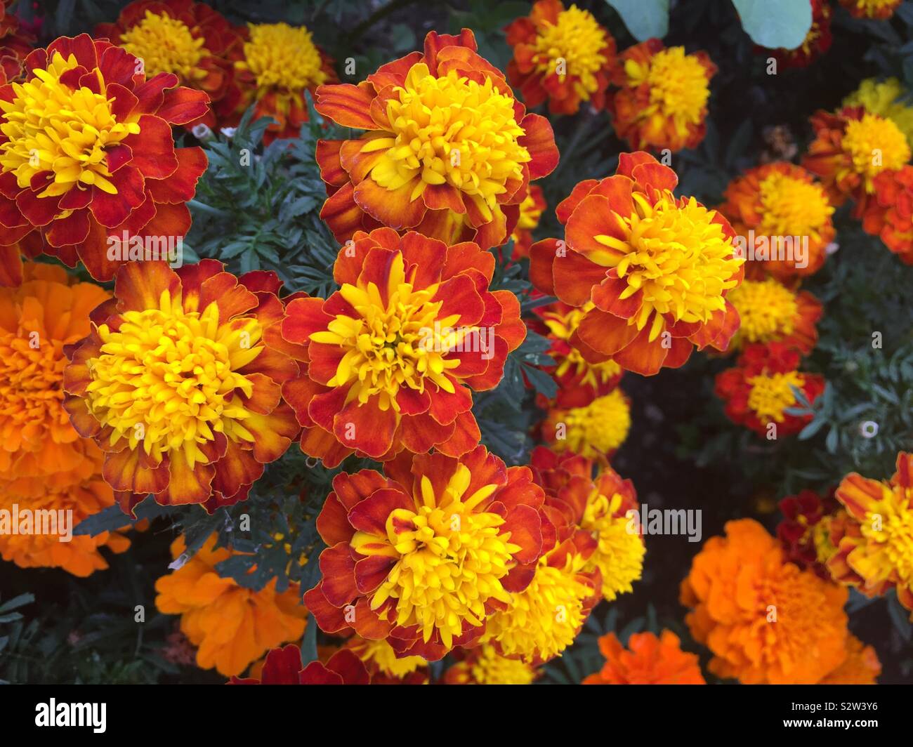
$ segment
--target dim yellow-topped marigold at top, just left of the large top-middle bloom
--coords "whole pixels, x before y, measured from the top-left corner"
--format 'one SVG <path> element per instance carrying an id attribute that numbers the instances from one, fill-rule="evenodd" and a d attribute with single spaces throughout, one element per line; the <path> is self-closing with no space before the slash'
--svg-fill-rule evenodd
<path id="1" fill-rule="evenodd" d="M 241 92 L 236 118 L 254 104 L 255 118 L 276 120 L 263 142 L 297 138 L 308 121 L 304 92 L 314 95 L 320 85 L 337 80 L 333 60 L 314 44 L 305 26 L 248 24 L 243 34 L 244 47 L 235 62 Z"/>

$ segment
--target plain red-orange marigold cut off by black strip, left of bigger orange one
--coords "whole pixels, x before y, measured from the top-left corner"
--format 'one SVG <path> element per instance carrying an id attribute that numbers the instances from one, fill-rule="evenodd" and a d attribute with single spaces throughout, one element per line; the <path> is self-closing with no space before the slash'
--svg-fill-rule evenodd
<path id="1" fill-rule="evenodd" d="M 682 651 L 675 633 L 635 633 L 628 648 L 614 633 L 599 639 L 603 668 L 583 679 L 584 685 L 706 685 L 698 656 Z"/>

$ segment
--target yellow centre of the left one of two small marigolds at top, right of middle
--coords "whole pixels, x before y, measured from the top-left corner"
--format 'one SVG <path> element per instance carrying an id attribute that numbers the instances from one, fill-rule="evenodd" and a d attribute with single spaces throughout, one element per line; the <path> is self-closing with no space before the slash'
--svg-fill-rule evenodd
<path id="1" fill-rule="evenodd" d="M 558 14 L 558 23 L 546 22 L 533 43 L 532 61 L 540 72 L 557 73 L 563 83 L 569 76 L 584 101 L 599 88 L 596 73 L 608 59 L 603 55 L 605 31 L 593 14 L 572 5 Z"/>

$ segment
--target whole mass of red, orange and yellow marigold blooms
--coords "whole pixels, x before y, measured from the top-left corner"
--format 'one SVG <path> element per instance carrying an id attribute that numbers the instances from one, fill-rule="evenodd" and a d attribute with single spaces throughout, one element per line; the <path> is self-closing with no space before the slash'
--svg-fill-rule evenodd
<path id="1" fill-rule="evenodd" d="M 897 5 L 841 2 L 877 17 Z M 803 47 L 775 53 L 791 64 L 830 43 L 830 7 L 813 8 Z M 425 682 L 450 655 L 446 682 L 532 682 L 593 605 L 642 573 L 635 489 L 609 465 L 630 425 L 623 373 L 677 368 L 695 349 L 738 355 L 717 381 L 727 413 L 787 436 L 811 417 L 790 414 L 796 391 L 813 402 L 824 390 L 802 370 L 822 304 L 800 283 L 831 253 L 834 208 L 852 201 L 866 231 L 913 264 L 913 110 L 896 102 L 897 81 L 866 81 L 816 114 L 801 166 L 759 165 L 710 208 L 674 196 L 675 172 L 646 152 L 703 138 L 706 54 L 656 39 L 619 53 L 590 13 L 559 0 L 537 2 L 507 38 L 506 76 L 464 30 L 432 32 L 352 84 L 306 28 L 238 28 L 190 0 L 139 0 L 94 37 L 35 49 L 0 4 L 0 506 L 81 521 L 152 495 L 213 511 L 246 500 L 290 447 L 328 468 L 352 454 L 377 463 L 333 480 L 310 590 L 220 577 L 232 550 L 215 536 L 189 560 L 183 538 L 173 543 L 183 564 L 156 601 L 181 615 L 202 668 L 242 683 Z M 352 132 L 316 152 L 320 216 L 341 243 L 329 298 L 215 259 L 110 260 L 109 237 L 190 226 L 207 162 L 175 145 L 173 127 L 231 127 L 253 105 L 276 121 L 268 138 L 294 137 L 306 90 Z M 606 110 L 632 152 L 554 206 L 563 237 L 533 243 L 546 205 L 531 183 L 559 160 L 549 121 L 528 111 L 545 102 L 553 115 Z M 807 237 L 807 254 L 740 252 L 756 235 Z M 535 288 L 557 299 L 528 320 L 490 287 L 490 250 L 511 237 Z M 81 261 L 113 291 L 42 254 Z M 547 446 L 507 467 L 479 444 L 473 393 L 498 385 L 527 324 L 551 341 L 558 394 L 540 395 Z M 844 605 L 850 586 L 896 588 L 913 609 L 913 457 L 900 454 L 887 482 L 852 474 L 782 509 L 776 538 L 730 522 L 682 583 L 710 671 L 874 682 L 875 652 L 849 634 Z M 5 560 L 79 576 L 107 567 L 100 547 L 129 544 L 126 531 L 0 536 Z M 309 613 L 344 642 L 303 666 L 294 642 Z M 587 682 L 704 682 L 669 631 L 628 648 L 608 635 L 601 648 L 605 667 Z"/>

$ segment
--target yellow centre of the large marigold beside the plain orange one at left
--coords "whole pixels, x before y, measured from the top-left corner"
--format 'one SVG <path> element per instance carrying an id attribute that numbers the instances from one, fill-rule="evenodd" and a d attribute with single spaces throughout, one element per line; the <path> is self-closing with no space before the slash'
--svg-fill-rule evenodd
<path id="1" fill-rule="evenodd" d="M 219 324 L 215 303 L 184 311 L 181 297 L 163 290 L 158 309 L 126 311 L 120 330 L 99 327 L 100 355 L 89 359 L 89 410 L 110 426 L 110 443 L 140 443 L 156 461 L 182 449 L 187 463 L 209 462 L 199 445 L 223 433 L 253 442 L 241 395 L 253 384 L 241 373 L 260 351 L 255 319 Z"/>

